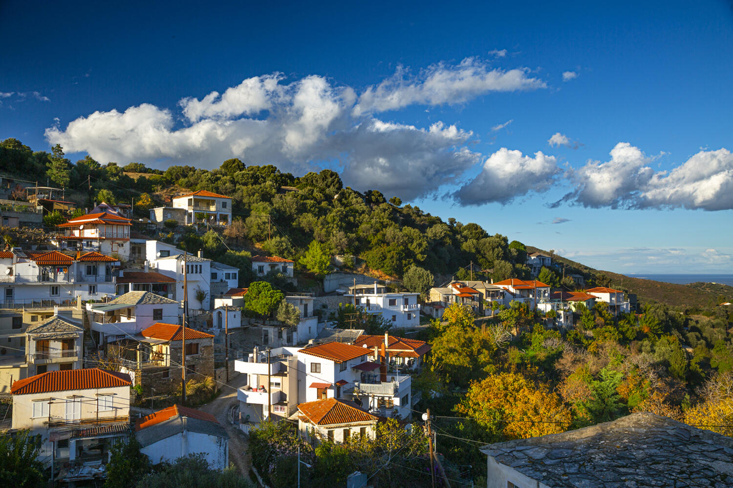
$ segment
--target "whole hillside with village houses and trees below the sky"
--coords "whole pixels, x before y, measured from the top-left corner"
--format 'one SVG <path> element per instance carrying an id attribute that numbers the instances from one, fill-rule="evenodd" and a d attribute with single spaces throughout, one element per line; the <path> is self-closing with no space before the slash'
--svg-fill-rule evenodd
<path id="1" fill-rule="evenodd" d="M 252 486 L 556 486 L 545 436 L 582 465 L 582 432 L 661 443 L 638 425 L 726 457 L 710 486 L 733 476 L 729 290 L 653 303 L 329 170 L 18 140 L 0 163 L 0 428 L 40 436 L 43 484 L 134 486 L 120 459 L 194 455 Z M 591 461 L 573 486 L 637 486 Z"/>

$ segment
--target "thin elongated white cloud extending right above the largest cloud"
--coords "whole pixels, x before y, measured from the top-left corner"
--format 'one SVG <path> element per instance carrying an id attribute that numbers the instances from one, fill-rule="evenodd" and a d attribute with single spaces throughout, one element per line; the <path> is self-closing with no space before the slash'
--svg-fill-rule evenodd
<path id="1" fill-rule="evenodd" d="M 545 88 L 545 82 L 528 78 L 527 70 L 490 70 L 485 61 L 466 58 L 457 64 L 434 64 L 419 76 L 398 67 L 391 78 L 369 86 L 359 97 L 355 115 L 397 110 L 408 105 L 463 103 L 491 91 L 518 91 Z"/>

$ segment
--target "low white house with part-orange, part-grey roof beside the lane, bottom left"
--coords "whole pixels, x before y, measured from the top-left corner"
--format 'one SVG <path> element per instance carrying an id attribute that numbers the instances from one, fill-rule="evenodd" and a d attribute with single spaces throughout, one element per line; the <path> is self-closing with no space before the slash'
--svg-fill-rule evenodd
<path id="1" fill-rule="evenodd" d="M 173 405 L 153 412 L 136 422 L 135 438 L 153 464 L 203 454 L 212 469 L 229 466 L 229 435 L 216 417 L 201 410 Z"/>

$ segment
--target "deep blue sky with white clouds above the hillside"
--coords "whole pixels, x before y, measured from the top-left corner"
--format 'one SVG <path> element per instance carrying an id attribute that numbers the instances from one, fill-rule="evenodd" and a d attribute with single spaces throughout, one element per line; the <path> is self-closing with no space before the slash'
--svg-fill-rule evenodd
<path id="1" fill-rule="evenodd" d="M 336 168 L 600 269 L 732 273 L 732 4 L 637 3 L 6 0 L 0 139 Z"/>

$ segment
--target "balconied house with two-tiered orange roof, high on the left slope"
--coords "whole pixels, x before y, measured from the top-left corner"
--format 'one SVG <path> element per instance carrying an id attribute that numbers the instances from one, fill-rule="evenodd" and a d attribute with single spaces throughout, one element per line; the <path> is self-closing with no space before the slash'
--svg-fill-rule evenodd
<path id="1" fill-rule="evenodd" d="M 59 225 L 64 236 L 58 241 L 71 249 L 99 251 L 126 261 L 130 258 L 131 226 L 131 219 L 109 211 L 86 214 Z"/>

